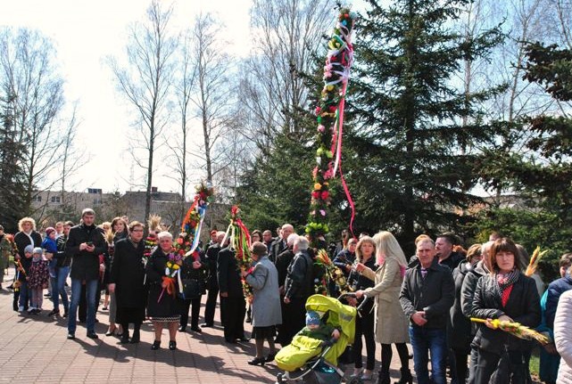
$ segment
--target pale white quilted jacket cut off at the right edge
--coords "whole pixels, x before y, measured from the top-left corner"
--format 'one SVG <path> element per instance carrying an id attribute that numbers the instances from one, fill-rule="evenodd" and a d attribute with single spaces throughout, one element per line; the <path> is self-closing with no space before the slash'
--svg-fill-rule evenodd
<path id="1" fill-rule="evenodd" d="M 572 290 L 564 292 L 559 299 L 554 318 L 554 342 L 562 357 L 557 384 L 572 383 Z"/>

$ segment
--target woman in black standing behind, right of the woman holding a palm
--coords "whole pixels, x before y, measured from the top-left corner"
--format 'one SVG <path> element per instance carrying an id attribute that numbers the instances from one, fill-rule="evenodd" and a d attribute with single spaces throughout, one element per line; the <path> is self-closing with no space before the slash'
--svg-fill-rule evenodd
<path id="1" fill-rule="evenodd" d="M 181 279 L 184 281 L 193 280 L 195 286 L 198 287 L 196 296 L 185 298 L 183 300 L 180 328 L 178 331 L 187 330 L 188 310 L 191 309 L 191 331 L 201 333 L 199 328 L 199 311 L 201 309 L 201 298 L 206 293 L 206 279 L 209 275 L 209 266 L 204 257 L 203 251 L 197 249 L 193 255 L 185 257 L 181 268 Z"/>

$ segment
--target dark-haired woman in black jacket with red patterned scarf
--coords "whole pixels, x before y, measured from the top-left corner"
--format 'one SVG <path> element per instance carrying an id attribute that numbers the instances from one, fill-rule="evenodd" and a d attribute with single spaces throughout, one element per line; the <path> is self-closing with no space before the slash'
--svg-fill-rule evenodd
<path id="1" fill-rule="evenodd" d="M 507 331 L 496 329 L 493 319 L 517 322 L 535 328 L 541 320 L 540 298 L 533 279 L 520 271 L 524 269 L 518 249 L 510 239 L 494 241 L 489 251 L 491 274 L 477 282 L 475 301 L 471 311 L 475 317 L 485 319 L 473 343 L 478 347 L 476 384 L 487 384 L 497 369 L 502 355 L 508 357 L 509 372 L 499 370 L 503 381 L 525 382 L 526 364 L 523 351 L 528 341 L 518 339 Z"/>

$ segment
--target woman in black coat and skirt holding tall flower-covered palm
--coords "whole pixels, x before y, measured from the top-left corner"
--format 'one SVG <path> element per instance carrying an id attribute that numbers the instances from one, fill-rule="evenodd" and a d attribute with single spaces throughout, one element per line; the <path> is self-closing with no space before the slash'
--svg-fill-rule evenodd
<path id="1" fill-rule="evenodd" d="M 168 232 L 157 234 L 159 247 L 149 257 L 145 273 L 149 284 L 149 301 L 147 315 L 153 322 L 155 340 L 151 349 L 161 346 L 162 329 L 164 325 L 169 328 L 169 349 L 177 349 L 177 329 L 181 314 L 181 300 L 177 297 L 177 284 L 175 292 L 168 292 L 168 282 L 165 267 L 173 252 L 173 235 Z"/>

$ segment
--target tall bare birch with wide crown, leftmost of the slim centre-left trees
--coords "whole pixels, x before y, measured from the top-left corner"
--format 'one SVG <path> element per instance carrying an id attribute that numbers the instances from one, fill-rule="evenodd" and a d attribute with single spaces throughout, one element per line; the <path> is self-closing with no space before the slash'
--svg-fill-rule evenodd
<path id="1" fill-rule="evenodd" d="M 168 123 L 167 102 L 174 63 L 176 38 L 170 35 L 172 7 L 163 10 L 154 0 L 147 9 L 145 23 L 134 23 L 129 29 L 126 46 L 127 62 L 122 66 L 115 58 L 109 64 L 120 93 L 137 115 L 137 134 L 131 135 L 134 161 L 145 169 L 145 217 L 151 210 L 153 159 L 159 138 Z M 138 154 L 145 153 L 143 158 Z"/>

